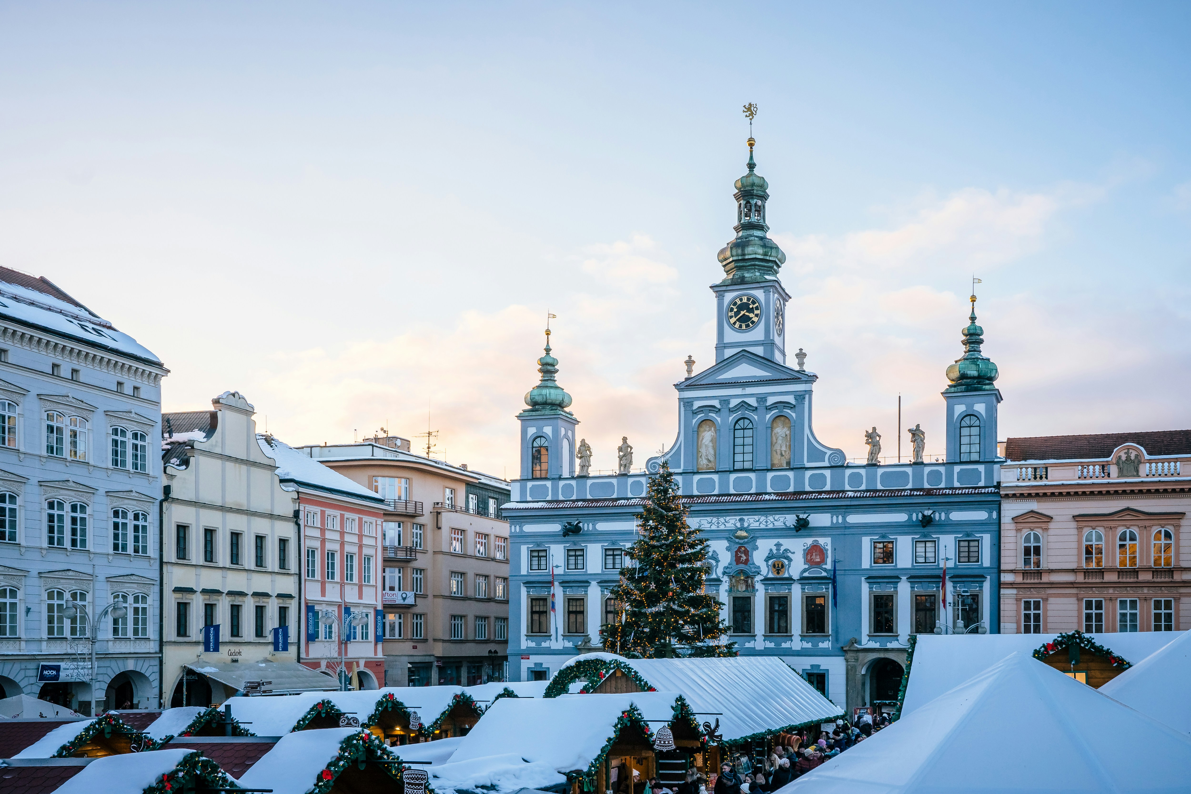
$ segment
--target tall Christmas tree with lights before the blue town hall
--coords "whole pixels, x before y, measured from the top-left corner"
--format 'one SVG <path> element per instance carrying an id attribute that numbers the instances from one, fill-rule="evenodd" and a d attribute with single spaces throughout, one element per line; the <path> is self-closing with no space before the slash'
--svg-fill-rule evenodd
<path id="1" fill-rule="evenodd" d="M 668 464 L 649 477 L 636 518 L 631 563 L 611 593 L 616 620 L 600 627 L 604 650 L 642 658 L 736 656 L 736 643 L 717 642 L 729 627 L 719 621 L 719 601 L 703 592 L 707 544 L 686 523 Z"/>

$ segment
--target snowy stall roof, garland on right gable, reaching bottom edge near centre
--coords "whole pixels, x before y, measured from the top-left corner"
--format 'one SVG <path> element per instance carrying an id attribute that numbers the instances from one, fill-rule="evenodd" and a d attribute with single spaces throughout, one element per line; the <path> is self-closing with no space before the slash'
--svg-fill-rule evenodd
<path id="1" fill-rule="evenodd" d="M 437 788 L 441 781 L 443 788 L 472 788 L 517 782 L 513 788 L 532 788 L 561 782 L 559 775 L 567 773 L 586 774 L 616 737 L 625 712 L 634 708 L 641 719 L 657 720 L 646 723 L 656 730 L 674 718 L 678 698 L 673 692 L 501 698 L 463 737 L 449 764 L 431 767 L 431 784 Z M 468 777 L 468 769 L 479 777 Z M 486 783 L 490 777 L 504 782 Z"/>

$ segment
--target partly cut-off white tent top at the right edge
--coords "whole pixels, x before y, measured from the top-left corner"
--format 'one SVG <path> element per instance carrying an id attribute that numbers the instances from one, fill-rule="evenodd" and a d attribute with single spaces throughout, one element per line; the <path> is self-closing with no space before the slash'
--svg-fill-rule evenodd
<path id="1" fill-rule="evenodd" d="M 1191 733 L 1191 631 L 1112 679 L 1099 692 Z"/>

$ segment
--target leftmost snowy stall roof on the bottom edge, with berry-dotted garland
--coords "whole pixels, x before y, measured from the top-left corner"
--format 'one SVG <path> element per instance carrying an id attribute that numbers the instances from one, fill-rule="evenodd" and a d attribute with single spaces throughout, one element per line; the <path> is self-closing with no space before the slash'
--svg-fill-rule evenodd
<path id="1" fill-rule="evenodd" d="M 96 758 L 54 794 L 143 794 L 161 783 L 162 775 L 169 775 L 168 782 L 175 792 L 181 792 L 186 783 L 207 789 L 235 786 L 216 762 L 195 750 L 154 750 Z"/>

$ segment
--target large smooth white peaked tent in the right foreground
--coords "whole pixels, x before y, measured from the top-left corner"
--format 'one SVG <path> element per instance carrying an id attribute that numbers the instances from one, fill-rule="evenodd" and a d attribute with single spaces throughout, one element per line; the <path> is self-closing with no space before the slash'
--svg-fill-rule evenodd
<path id="1" fill-rule="evenodd" d="M 1015 652 L 779 794 L 1167 794 L 1191 737 Z"/>

